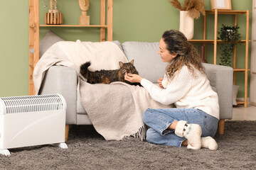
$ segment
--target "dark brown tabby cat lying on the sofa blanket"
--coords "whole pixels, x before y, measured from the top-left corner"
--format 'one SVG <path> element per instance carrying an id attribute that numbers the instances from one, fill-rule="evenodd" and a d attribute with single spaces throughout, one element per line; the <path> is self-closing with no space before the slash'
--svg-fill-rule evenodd
<path id="1" fill-rule="evenodd" d="M 82 77 L 87 79 L 87 82 L 90 84 L 110 84 L 114 81 L 122 81 L 131 85 L 139 85 L 139 83 L 131 83 L 124 80 L 124 74 L 139 74 L 137 69 L 134 67 L 134 60 L 131 62 L 119 62 L 119 69 L 105 70 L 101 69 L 100 71 L 90 72 L 88 67 L 90 67 L 90 62 L 85 62 L 80 66 L 80 74 Z"/>

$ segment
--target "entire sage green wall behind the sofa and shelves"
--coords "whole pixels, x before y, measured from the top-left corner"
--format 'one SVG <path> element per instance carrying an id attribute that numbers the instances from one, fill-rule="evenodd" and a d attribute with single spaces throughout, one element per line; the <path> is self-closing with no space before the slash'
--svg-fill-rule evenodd
<path id="1" fill-rule="evenodd" d="M 15 1 L 15 3 L 14 3 Z M 44 1 L 40 0 L 40 23 L 43 24 Z M 142 41 L 156 42 L 164 30 L 178 29 L 179 12 L 169 0 L 113 0 L 114 23 L 113 40 L 119 42 Z M 183 1 L 181 1 L 183 2 Z M 210 9 L 210 0 L 205 0 Z M 28 0 L 0 1 L 0 96 L 28 95 Z M 233 10 L 252 9 L 252 1 L 232 0 Z M 63 13 L 65 24 L 78 24 L 80 8 L 78 0 L 62 0 L 58 7 Z M 100 24 L 100 0 L 91 0 L 90 23 Z M 207 38 L 213 38 L 213 15 L 207 17 Z M 233 16 L 221 16 L 219 22 L 233 25 Z M 238 16 L 240 33 L 245 39 L 245 16 Z M 218 25 L 218 29 L 221 24 Z M 40 28 L 40 38 L 49 28 Z M 65 40 L 99 41 L 99 28 L 50 28 Z M 203 38 L 203 17 L 195 21 L 194 39 Z M 199 49 L 200 45 L 196 45 Z M 207 46 L 207 60 L 213 62 L 213 45 Z M 250 51 L 250 50 L 249 50 Z M 238 67 L 244 67 L 242 56 L 245 45 L 238 45 Z M 241 86 L 238 97 L 243 96 L 243 74 L 239 74 Z"/>

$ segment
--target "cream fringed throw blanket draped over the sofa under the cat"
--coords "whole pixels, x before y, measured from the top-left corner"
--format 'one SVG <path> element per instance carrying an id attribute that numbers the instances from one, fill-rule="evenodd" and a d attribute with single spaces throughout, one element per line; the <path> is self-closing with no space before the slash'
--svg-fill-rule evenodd
<path id="1" fill-rule="evenodd" d="M 154 101 L 141 86 L 122 82 L 88 84 L 80 78 L 80 65 L 90 61 L 90 70 L 118 69 L 119 61 L 128 62 L 113 42 L 57 42 L 36 64 L 33 81 L 36 94 L 46 70 L 52 65 L 72 67 L 78 72 L 78 94 L 95 130 L 105 140 L 134 136 L 144 139 L 146 128 L 142 114 L 146 108 L 171 108 Z M 79 97 L 79 96 L 78 96 Z"/>

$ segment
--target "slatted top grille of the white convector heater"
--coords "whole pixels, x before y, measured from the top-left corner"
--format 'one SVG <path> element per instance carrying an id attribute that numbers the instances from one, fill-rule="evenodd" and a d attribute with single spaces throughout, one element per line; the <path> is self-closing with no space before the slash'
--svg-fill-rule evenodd
<path id="1" fill-rule="evenodd" d="M 65 99 L 60 94 L 0 98 L 0 114 L 56 111 L 65 107 Z"/>

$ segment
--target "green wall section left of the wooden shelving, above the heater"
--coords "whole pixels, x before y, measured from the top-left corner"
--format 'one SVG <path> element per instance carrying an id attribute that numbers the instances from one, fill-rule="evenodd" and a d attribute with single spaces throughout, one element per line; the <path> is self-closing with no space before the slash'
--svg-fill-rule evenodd
<path id="1" fill-rule="evenodd" d="M 0 96 L 28 95 L 28 1 L 0 6 Z"/>

